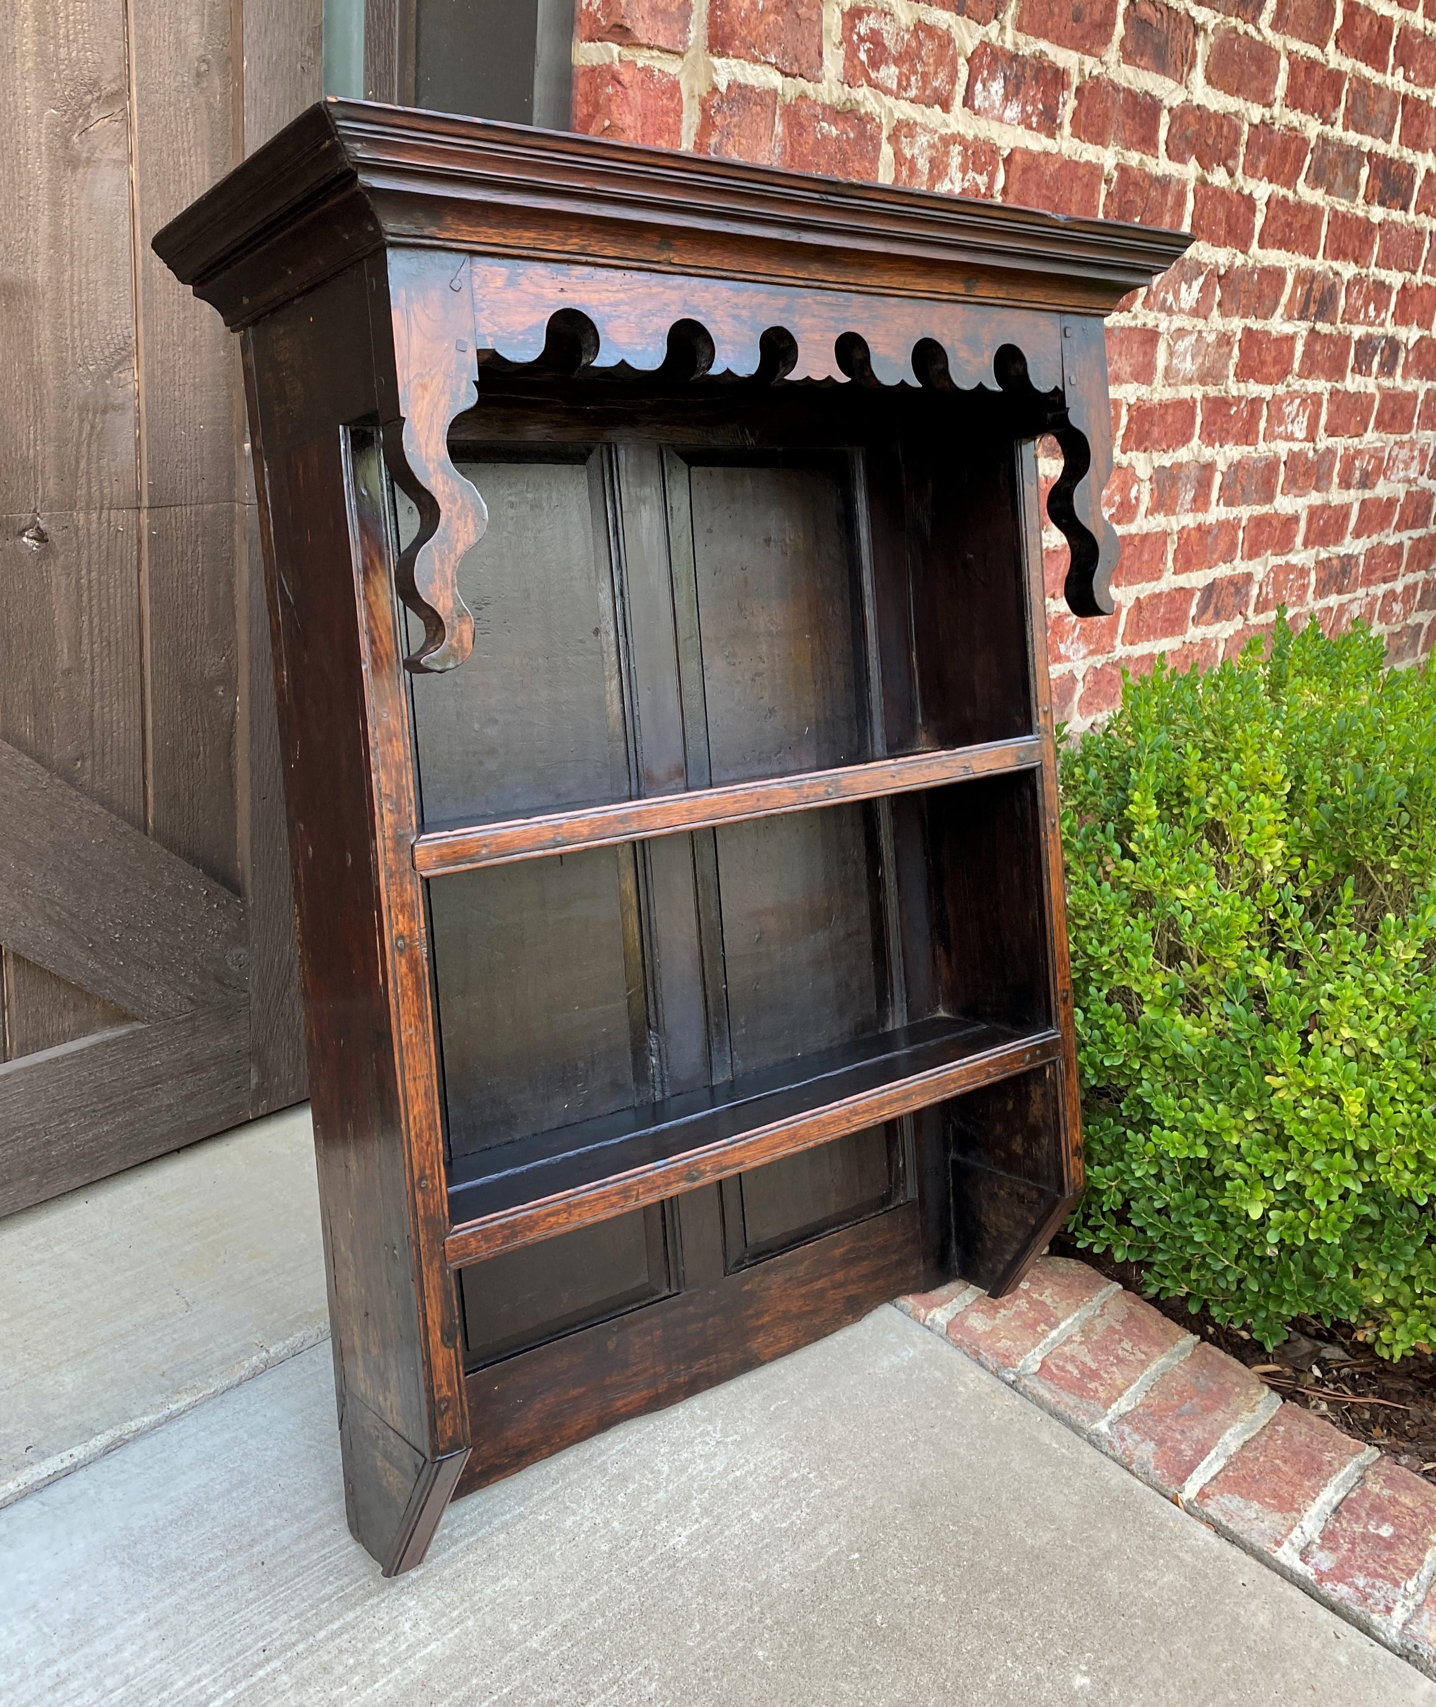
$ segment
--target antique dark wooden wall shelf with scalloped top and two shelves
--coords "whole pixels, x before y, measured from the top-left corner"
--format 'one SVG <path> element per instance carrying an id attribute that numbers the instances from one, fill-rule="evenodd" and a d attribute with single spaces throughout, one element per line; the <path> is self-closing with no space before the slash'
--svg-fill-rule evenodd
<path id="1" fill-rule="evenodd" d="M 242 329 L 353 1533 L 1081 1180 L 1035 440 L 1187 237 L 326 102 L 155 239 Z"/>

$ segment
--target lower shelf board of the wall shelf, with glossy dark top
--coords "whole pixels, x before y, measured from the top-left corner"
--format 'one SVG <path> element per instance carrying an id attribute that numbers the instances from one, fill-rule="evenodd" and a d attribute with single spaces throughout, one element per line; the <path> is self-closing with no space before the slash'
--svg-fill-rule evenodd
<path id="1" fill-rule="evenodd" d="M 458 1157 L 451 1268 L 896 1120 L 1057 1058 L 1055 1031 L 937 1017 L 751 1079 Z"/>

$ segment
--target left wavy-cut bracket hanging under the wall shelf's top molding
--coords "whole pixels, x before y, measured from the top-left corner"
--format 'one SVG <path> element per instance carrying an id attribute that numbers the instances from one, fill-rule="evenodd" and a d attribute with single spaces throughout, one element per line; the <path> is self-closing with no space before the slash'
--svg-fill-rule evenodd
<path id="1" fill-rule="evenodd" d="M 473 613 L 459 597 L 464 553 L 488 509 L 449 461 L 449 423 L 476 398 L 468 258 L 432 249 L 389 254 L 398 420 L 384 423 L 384 461 L 418 509 L 418 533 L 396 567 L 400 597 L 423 623 L 410 669 L 454 669 L 473 650 Z"/>

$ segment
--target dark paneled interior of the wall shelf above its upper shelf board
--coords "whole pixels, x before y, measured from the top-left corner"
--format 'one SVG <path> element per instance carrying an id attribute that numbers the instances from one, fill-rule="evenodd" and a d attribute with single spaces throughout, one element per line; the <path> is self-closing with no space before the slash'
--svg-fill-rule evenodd
<path id="1" fill-rule="evenodd" d="M 714 427 L 743 449 L 661 415 L 651 440 L 502 398 L 473 418 L 545 442 L 454 449 L 488 527 L 459 568 L 473 655 L 412 681 L 425 828 L 1033 732 L 1001 423 L 898 432 L 794 389 L 806 437 Z"/>

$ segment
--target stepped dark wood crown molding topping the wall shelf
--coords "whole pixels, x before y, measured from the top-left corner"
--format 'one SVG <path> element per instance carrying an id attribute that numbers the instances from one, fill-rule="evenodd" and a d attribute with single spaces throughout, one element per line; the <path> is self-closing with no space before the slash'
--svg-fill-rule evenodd
<path id="1" fill-rule="evenodd" d="M 237 328 L 382 248 L 1105 314 L 1185 232 L 324 101 L 154 241 Z"/>

